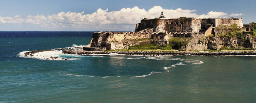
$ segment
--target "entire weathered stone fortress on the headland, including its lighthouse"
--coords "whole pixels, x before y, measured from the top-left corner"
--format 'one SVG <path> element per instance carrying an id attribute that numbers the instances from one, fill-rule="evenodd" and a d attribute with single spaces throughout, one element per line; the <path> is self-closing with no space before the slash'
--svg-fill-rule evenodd
<path id="1" fill-rule="evenodd" d="M 142 19 L 140 23 L 136 24 L 135 32 L 94 32 L 90 41 L 91 48 L 84 48 L 84 50 L 127 49 L 130 46 L 140 45 L 145 42 L 154 42 L 154 44 L 159 46 L 167 46 L 169 44 L 168 40 L 173 37 L 185 37 L 194 40 L 190 40 L 183 47 L 183 50 L 217 50 L 221 46 L 214 48 L 213 45 L 209 45 L 211 39 L 207 41 L 203 39 L 212 34 L 216 36 L 221 33 L 252 31 L 252 28 L 254 28 L 253 23 L 244 25 L 242 21 L 242 17 L 240 19 L 234 17 L 207 19 L 186 17 L 165 18 L 163 12 L 161 12 L 159 18 Z M 195 47 L 194 45 L 197 46 Z M 243 44 L 237 44 L 237 46 L 240 45 Z M 228 46 L 232 47 L 233 45 L 230 43 Z"/>

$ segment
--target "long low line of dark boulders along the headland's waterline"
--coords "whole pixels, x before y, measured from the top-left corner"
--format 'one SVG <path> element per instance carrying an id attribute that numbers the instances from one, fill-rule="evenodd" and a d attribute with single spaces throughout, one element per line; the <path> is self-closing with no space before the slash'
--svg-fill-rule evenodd
<path id="1" fill-rule="evenodd" d="M 220 52 L 147 52 L 147 51 L 136 51 L 136 52 L 125 52 L 125 51 L 83 51 L 83 50 L 62 50 L 63 53 L 67 54 L 79 54 L 79 55 L 89 55 L 89 54 L 125 54 L 125 55 L 209 55 L 209 56 L 231 56 L 231 55 L 256 55 L 256 51 L 220 51 Z"/>

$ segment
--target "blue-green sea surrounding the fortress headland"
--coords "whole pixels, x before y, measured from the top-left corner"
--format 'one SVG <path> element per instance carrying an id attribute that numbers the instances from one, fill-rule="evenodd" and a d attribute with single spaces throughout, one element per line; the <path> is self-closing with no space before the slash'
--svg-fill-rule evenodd
<path id="1" fill-rule="evenodd" d="M 254 56 L 67 55 L 54 51 L 55 56 L 70 60 L 53 61 L 19 55 L 86 45 L 91 35 L 0 32 L 0 103 L 256 101 Z"/>

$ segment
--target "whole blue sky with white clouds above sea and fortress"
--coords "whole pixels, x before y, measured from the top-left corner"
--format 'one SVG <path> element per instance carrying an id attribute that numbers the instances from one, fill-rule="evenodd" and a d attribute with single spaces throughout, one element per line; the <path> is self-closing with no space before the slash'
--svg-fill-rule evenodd
<path id="1" fill-rule="evenodd" d="M 134 31 L 143 18 L 256 22 L 255 0 L 1 0 L 0 31 Z"/>

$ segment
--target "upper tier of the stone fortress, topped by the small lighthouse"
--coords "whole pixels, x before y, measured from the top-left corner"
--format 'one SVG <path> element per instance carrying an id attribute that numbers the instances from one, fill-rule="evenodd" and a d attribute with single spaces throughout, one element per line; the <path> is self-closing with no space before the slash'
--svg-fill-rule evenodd
<path id="1" fill-rule="evenodd" d="M 209 35 L 214 33 L 213 28 L 219 25 L 231 26 L 236 24 L 238 28 L 243 27 L 243 18 L 165 18 L 163 12 L 159 18 L 147 19 L 144 18 L 140 23 L 136 24 L 135 32 L 139 32 L 145 29 L 153 29 L 156 33 L 172 33 L 172 34 L 183 34 L 183 33 L 201 33 Z M 242 29 L 244 30 L 244 29 Z M 227 31 L 228 32 L 228 31 Z"/>

